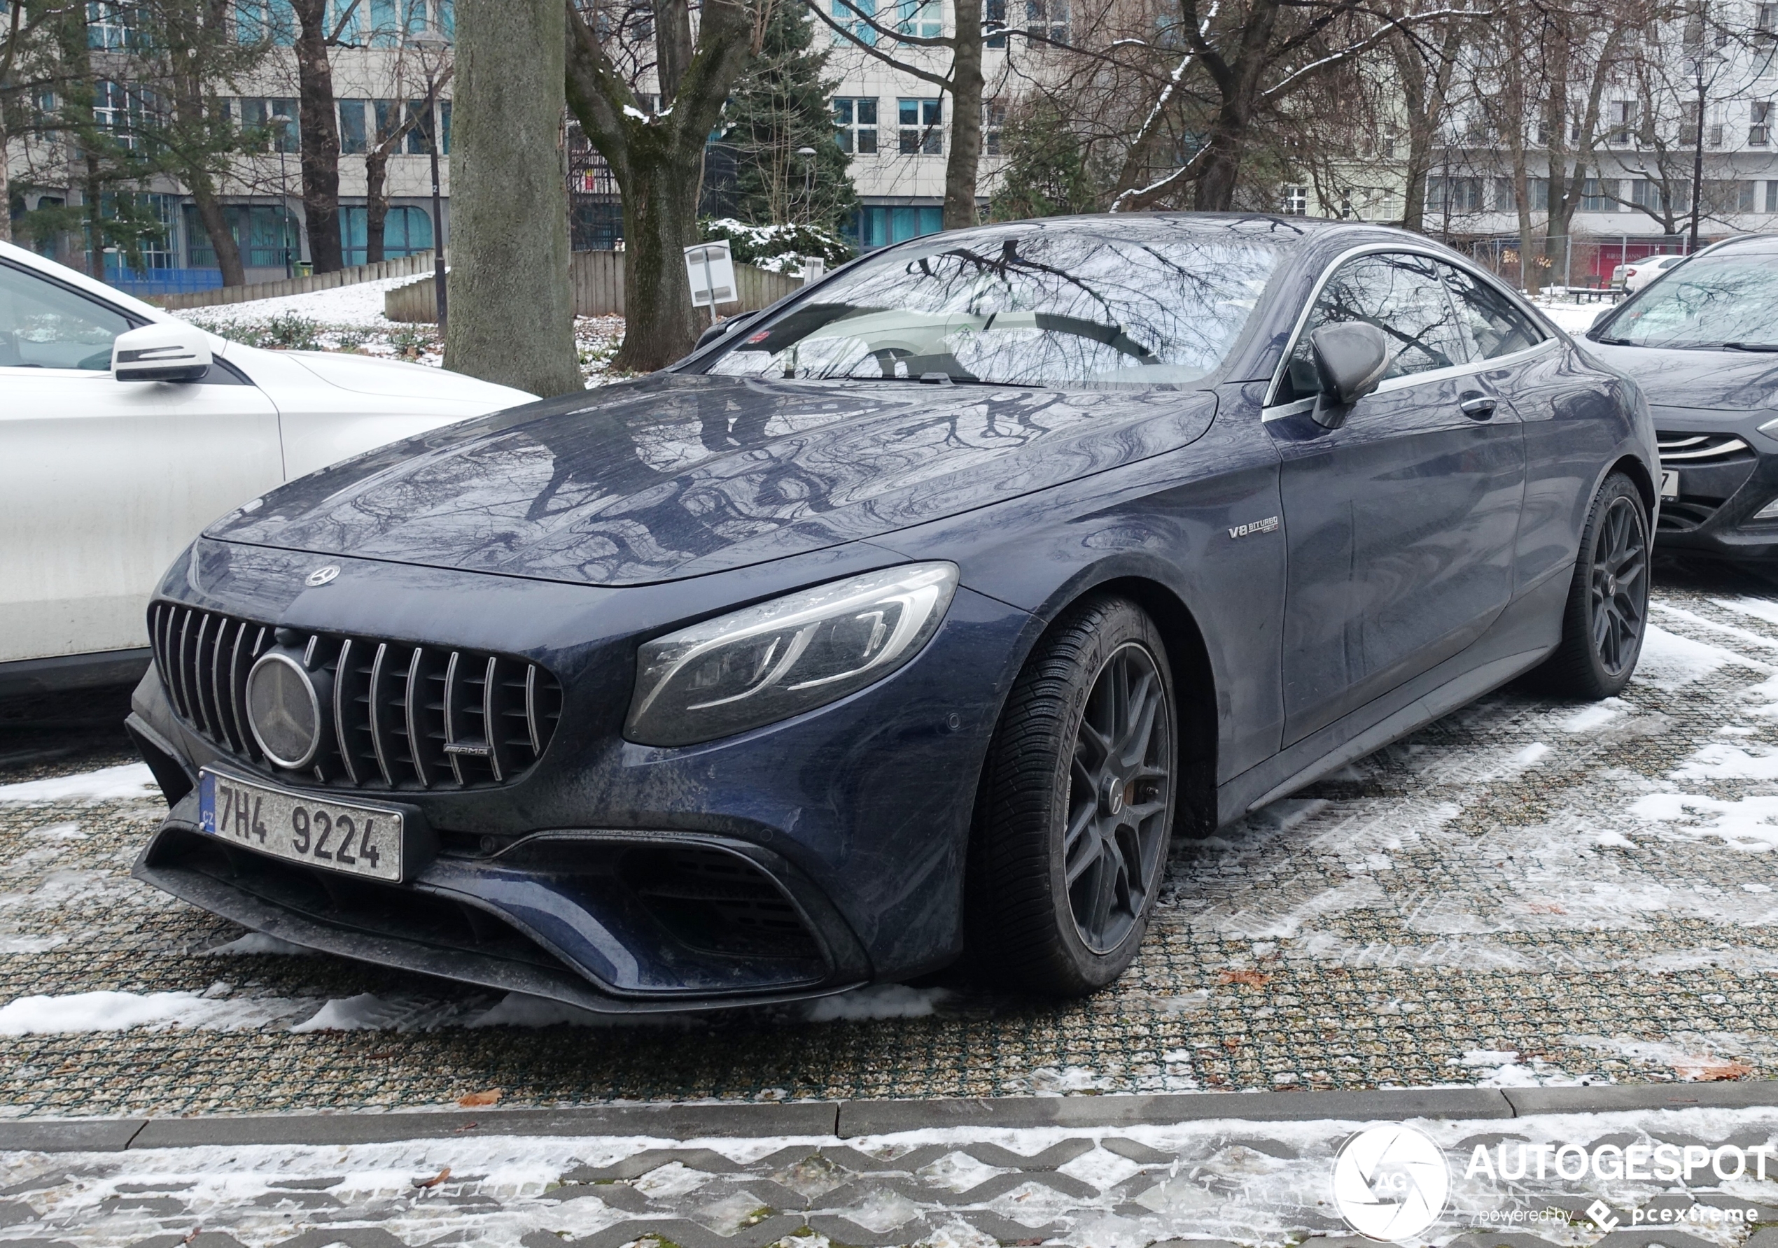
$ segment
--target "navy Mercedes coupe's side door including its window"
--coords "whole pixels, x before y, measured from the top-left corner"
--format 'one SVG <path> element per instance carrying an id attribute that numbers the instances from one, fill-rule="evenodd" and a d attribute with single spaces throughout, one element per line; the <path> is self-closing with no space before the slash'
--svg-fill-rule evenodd
<path id="1" fill-rule="evenodd" d="M 1394 357 L 1325 428 L 1309 334 L 1351 320 L 1382 329 Z M 1424 254 L 1346 260 L 1300 325 L 1266 409 L 1289 560 L 1285 745 L 1451 658 L 1511 597 L 1526 452 L 1517 412 L 1479 372 Z"/>

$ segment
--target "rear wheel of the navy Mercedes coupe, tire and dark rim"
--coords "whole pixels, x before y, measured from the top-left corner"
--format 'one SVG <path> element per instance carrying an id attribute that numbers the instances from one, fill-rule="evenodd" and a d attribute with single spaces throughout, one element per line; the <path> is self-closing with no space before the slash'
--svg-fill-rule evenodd
<path id="1" fill-rule="evenodd" d="M 1538 670 L 1542 688 L 1597 702 L 1630 683 L 1648 628 L 1650 548 L 1648 505 L 1629 476 L 1613 473 L 1581 530 L 1561 644 Z"/>

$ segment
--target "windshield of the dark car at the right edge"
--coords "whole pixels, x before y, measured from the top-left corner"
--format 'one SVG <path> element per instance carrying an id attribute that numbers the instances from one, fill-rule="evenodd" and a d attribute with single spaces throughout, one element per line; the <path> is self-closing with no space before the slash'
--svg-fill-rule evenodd
<path id="1" fill-rule="evenodd" d="M 1778 261 L 1748 252 L 1698 256 L 1646 286 L 1591 336 L 1627 347 L 1778 350 Z"/>

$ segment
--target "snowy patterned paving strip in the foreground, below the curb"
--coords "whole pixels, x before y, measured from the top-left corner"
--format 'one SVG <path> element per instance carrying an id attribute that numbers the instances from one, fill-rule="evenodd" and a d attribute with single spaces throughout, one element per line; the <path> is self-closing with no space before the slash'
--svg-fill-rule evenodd
<path id="1" fill-rule="evenodd" d="M 857 1140 L 491 1136 L 0 1154 L 0 1243 L 1284 1248 L 1312 1237 L 1321 1248 L 1358 1248 L 1374 1241 L 1350 1234 L 1334 1182 L 1334 1157 L 1357 1125 L 1221 1120 Z M 1757 1156 L 1748 1157 L 1778 1138 L 1773 1109 L 1412 1125 L 1444 1150 L 1449 1172 L 1449 1198 L 1435 1202 L 1442 1216 L 1414 1244 L 1766 1248 L 1778 1236 L 1762 1228 L 1778 1218 L 1778 1182 L 1760 1180 Z M 1716 1152 L 1726 1143 L 1744 1152 Z M 1661 1145 L 1671 1147 L 1673 1168 L 1687 1164 L 1687 1147 L 1696 1150 L 1689 1182 L 1648 1177 L 1662 1166 Z M 1638 1147 L 1648 1152 L 1638 1156 Z M 1542 1179 L 1540 1152 L 1549 1163 Z M 1607 1175 L 1630 1157 L 1645 1179 L 1558 1177 L 1558 1164 L 1574 1173 L 1588 1157 L 1602 1157 Z M 1718 1159 L 1725 1173 L 1744 1173 L 1719 1179 Z M 1499 1179 L 1502 1164 L 1526 1177 Z M 1602 1234 L 1611 1225 L 1616 1234 Z"/>

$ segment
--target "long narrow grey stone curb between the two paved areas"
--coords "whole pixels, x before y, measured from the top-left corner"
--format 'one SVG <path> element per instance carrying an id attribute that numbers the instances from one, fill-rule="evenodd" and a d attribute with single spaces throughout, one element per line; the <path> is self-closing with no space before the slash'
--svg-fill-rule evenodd
<path id="1" fill-rule="evenodd" d="M 1351 1118 L 1517 1118 L 1534 1113 L 1613 1113 L 1778 1106 L 1778 1081 L 1709 1084 L 1593 1084 L 1581 1088 L 1387 1088 L 1376 1092 L 1259 1092 L 1108 1097 L 990 1097 L 957 1100 L 789 1100 L 741 1104 L 587 1106 L 578 1109 L 444 1109 L 194 1118 L 7 1118 L 0 1152 L 121 1152 L 197 1145 L 352 1145 L 441 1136 L 836 1136 L 935 1127 L 1101 1129 Z"/>

